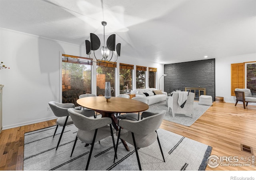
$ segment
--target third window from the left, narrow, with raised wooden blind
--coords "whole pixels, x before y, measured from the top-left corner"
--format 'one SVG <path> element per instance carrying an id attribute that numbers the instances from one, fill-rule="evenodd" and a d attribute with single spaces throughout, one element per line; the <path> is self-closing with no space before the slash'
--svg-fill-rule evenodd
<path id="1" fill-rule="evenodd" d="M 119 64 L 119 82 L 120 82 L 120 92 L 119 94 L 125 94 L 126 92 L 131 92 L 132 90 L 132 70 L 134 65 L 130 64 Z"/>

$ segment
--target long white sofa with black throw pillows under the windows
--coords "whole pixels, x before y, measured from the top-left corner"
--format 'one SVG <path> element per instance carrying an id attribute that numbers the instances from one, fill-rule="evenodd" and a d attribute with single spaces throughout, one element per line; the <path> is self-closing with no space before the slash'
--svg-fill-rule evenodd
<path id="1" fill-rule="evenodd" d="M 156 91 L 154 95 L 153 91 Z M 149 93 L 148 93 L 149 92 Z M 146 96 L 144 93 L 148 93 Z M 155 104 L 166 100 L 167 92 L 158 91 L 156 88 L 136 89 L 132 90 L 131 94 L 136 94 L 136 97 L 144 97 L 149 99 L 148 105 Z"/>

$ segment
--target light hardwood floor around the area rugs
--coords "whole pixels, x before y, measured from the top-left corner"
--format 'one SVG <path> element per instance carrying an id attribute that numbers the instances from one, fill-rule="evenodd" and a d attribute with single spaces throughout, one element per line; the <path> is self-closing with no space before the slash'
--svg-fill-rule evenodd
<path id="1" fill-rule="evenodd" d="M 0 134 L 0 170 L 23 170 L 24 133 L 53 126 L 56 120 L 40 122 L 18 128 L 2 130 Z M 182 126 L 164 120 L 160 128 L 212 146 L 216 156 L 251 157 L 241 151 L 241 144 L 251 146 L 256 152 L 256 106 L 246 109 L 242 104 L 217 103 L 192 126 Z M 218 166 L 206 170 L 256 170 L 247 166 Z"/>

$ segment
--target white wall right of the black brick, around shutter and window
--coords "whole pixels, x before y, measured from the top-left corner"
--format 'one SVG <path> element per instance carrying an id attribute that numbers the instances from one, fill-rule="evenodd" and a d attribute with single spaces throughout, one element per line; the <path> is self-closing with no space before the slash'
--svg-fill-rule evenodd
<path id="1" fill-rule="evenodd" d="M 225 102 L 235 103 L 236 97 L 231 96 L 231 64 L 256 61 L 256 54 L 231 56 L 215 59 L 216 96 L 224 97 Z M 241 102 L 239 102 L 241 103 Z M 255 103 L 249 103 L 256 105 Z"/>

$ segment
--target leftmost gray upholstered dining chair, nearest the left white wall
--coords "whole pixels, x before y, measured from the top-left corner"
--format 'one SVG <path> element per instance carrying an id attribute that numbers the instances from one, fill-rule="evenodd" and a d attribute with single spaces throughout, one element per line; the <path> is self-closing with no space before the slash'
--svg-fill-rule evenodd
<path id="1" fill-rule="evenodd" d="M 62 132 L 60 134 L 60 138 L 58 140 L 58 144 L 56 147 L 56 150 L 58 149 L 59 145 L 60 145 L 60 140 L 62 138 L 64 129 L 67 125 L 73 124 L 72 118 L 69 116 L 68 114 L 68 109 L 69 108 L 75 108 L 75 105 L 73 103 L 58 103 L 55 101 L 50 101 L 48 102 L 50 108 L 52 109 L 52 112 L 55 116 L 57 116 L 57 121 L 56 121 L 56 129 L 54 132 L 53 137 L 56 134 L 56 131 L 58 129 L 58 126 L 62 126 Z M 88 110 L 84 113 L 85 116 L 94 116 L 95 112 L 93 110 Z"/>

